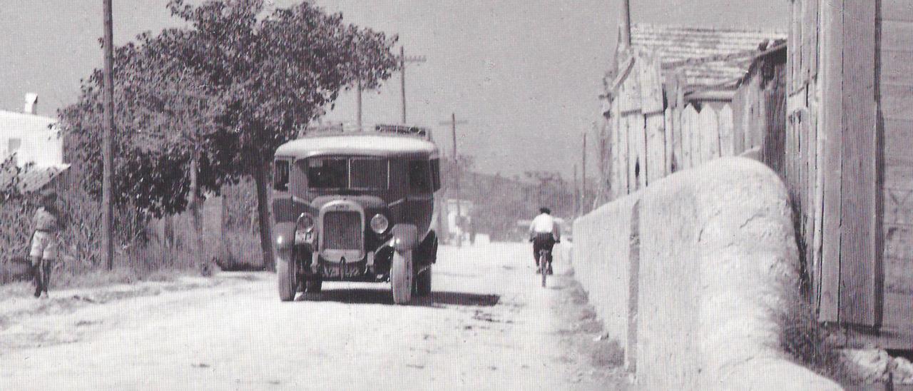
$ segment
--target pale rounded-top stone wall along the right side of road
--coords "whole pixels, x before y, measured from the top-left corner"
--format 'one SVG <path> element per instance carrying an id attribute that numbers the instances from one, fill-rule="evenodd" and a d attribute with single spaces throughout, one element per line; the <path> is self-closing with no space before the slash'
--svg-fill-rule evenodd
<path id="1" fill-rule="evenodd" d="M 645 388 L 839 386 L 780 350 L 799 257 L 780 179 L 723 158 L 574 223 L 575 276 Z"/>

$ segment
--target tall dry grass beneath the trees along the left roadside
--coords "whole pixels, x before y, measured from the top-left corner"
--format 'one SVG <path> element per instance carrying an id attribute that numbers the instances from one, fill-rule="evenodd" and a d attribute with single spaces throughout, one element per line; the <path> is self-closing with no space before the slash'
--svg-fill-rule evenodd
<path id="1" fill-rule="evenodd" d="M 251 232 L 247 198 L 252 195 L 245 194 L 244 189 L 233 192 L 245 199 L 230 202 L 226 208 L 229 212 L 226 223 L 234 223 L 228 225 L 226 238 L 221 237 L 221 202 L 205 204 L 203 250 L 199 258 L 189 214 L 173 217 L 174 237 L 169 244 L 163 240 L 161 221 L 129 209 L 118 211 L 115 216 L 118 245 L 111 270 L 103 264 L 101 254 L 98 203 L 79 190 L 58 192 L 58 205 L 68 224 L 60 235 L 60 256 L 52 274 L 52 288 L 208 275 L 215 264 L 223 269 L 263 269 L 257 233 Z M 30 219 L 36 207 L 35 197 L 29 196 L 0 205 L 0 220 L 4 222 L 0 225 L 0 260 L 27 256 Z"/>

